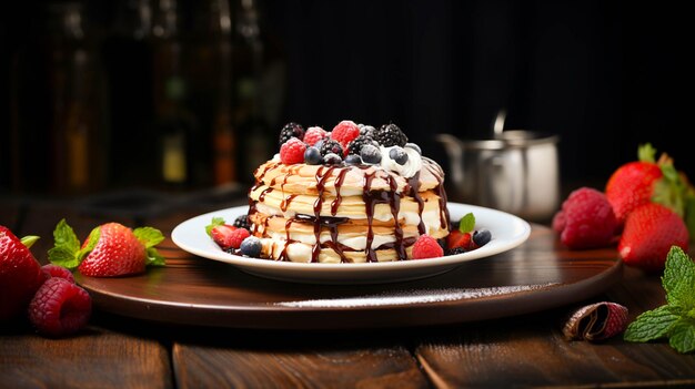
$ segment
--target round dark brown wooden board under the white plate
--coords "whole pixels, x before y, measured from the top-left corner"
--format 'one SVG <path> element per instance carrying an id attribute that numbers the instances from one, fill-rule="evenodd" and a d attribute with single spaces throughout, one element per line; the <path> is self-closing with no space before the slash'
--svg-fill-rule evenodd
<path id="1" fill-rule="evenodd" d="M 593 297 L 622 276 L 615 248 L 570 250 L 550 228 L 443 275 L 379 285 L 311 285 L 248 275 L 164 248 L 167 266 L 122 278 L 75 274 L 95 307 L 180 325 L 339 329 L 442 325 L 560 307 Z M 340 265 L 339 265 L 340 266 Z M 348 265 L 349 266 L 349 265 Z"/>

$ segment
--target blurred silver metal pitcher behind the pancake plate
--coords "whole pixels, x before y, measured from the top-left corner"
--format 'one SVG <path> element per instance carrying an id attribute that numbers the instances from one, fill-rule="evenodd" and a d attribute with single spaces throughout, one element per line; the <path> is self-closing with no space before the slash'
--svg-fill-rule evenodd
<path id="1" fill-rule="evenodd" d="M 449 198 L 548 222 L 560 206 L 560 136 L 503 125 L 501 112 L 492 139 L 436 135 L 450 161 Z"/>

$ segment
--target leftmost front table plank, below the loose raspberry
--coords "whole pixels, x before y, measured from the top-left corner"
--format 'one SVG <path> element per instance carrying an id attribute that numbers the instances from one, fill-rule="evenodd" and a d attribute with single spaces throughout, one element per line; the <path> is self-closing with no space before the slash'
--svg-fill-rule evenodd
<path id="1" fill-rule="evenodd" d="M 0 335 L 0 388 L 171 388 L 165 348 L 157 340 L 90 326 L 74 337 Z"/>

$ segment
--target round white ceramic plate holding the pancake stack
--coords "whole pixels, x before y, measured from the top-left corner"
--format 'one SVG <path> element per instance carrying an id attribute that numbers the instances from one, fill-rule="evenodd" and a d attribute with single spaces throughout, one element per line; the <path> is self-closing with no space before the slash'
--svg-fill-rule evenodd
<path id="1" fill-rule="evenodd" d="M 465 262 L 510 250 L 524 243 L 531 234 L 528 223 L 517 216 L 475 205 L 449 203 L 452 219 L 459 219 L 472 212 L 475 216 L 475 228 L 490 229 L 492 240 L 477 249 L 440 258 L 369 264 L 301 264 L 229 254 L 220 249 L 205 234 L 205 226 L 210 224 L 212 217 L 223 217 L 231 223 L 248 209 L 248 206 L 240 206 L 195 216 L 179 224 L 171 233 L 171 238 L 179 247 L 191 254 L 221 260 L 261 277 L 312 284 L 377 284 L 442 274 Z"/>

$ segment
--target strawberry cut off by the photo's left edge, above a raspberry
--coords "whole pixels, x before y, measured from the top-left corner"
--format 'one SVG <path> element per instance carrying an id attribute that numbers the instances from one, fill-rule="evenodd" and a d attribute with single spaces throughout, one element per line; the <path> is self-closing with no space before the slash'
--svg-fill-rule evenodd
<path id="1" fill-rule="evenodd" d="M 17 317 L 46 280 L 41 265 L 29 250 L 36 236 L 19 239 L 0 226 L 0 321 Z"/>

